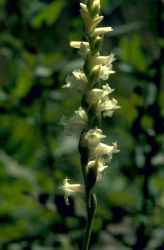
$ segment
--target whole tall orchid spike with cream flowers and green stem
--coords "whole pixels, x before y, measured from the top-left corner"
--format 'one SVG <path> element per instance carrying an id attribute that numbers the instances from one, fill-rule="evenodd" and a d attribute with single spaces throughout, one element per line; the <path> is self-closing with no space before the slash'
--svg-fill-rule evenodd
<path id="1" fill-rule="evenodd" d="M 70 184 L 64 180 L 62 189 L 65 192 L 65 201 L 69 204 L 68 197 L 77 195 L 86 201 L 86 230 L 83 240 L 83 250 L 89 247 L 91 228 L 96 212 L 96 195 L 94 186 L 102 180 L 107 163 L 117 153 L 117 143 L 109 146 L 102 141 L 106 136 L 99 128 L 102 117 L 111 117 L 114 111 L 120 108 L 115 99 L 109 98 L 114 91 L 108 84 L 101 84 L 114 73 L 112 62 L 115 60 L 111 53 L 108 56 L 100 55 L 103 35 L 112 31 L 111 27 L 98 27 L 103 20 L 99 15 L 100 0 L 88 0 L 80 3 L 80 13 L 85 25 L 86 41 L 72 41 L 70 46 L 78 49 L 84 59 L 83 70 L 76 69 L 66 79 L 64 88 L 73 88 L 82 93 L 81 104 L 70 119 L 63 118 L 61 124 L 69 135 L 73 128 L 79 128 L 79 153 L 84 184 Z M 101 87 L 102 86 L 102 87 Z"/>

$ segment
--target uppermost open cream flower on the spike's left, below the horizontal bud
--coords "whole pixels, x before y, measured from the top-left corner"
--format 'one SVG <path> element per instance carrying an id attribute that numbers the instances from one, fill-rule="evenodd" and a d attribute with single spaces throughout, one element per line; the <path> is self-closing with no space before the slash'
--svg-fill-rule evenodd
<path id="1" fill-rule="evenodd" d="M 87 78 L 83 71 L 74 70 L 72 75 L 67 76 L 66 83 L 63 88 L 72 88 L 84 91 L 87 85 Z"/>

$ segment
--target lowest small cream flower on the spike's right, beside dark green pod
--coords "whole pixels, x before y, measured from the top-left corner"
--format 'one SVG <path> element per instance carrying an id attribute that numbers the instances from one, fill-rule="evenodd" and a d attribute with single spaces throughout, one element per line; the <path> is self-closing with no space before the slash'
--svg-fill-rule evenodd
<path id="1" fill-rule="evenodd" d="M 87 165 L 87 167 L 90 168 L 95 167 L 95 165 L 97 164 L 97 181 L 101 181 L 103 179 L 103 172 L 108 167 L 107 165 L 105 165 L 105 163 L 105 159 L 99 158 L 94 161 L 89 161 Z"/>

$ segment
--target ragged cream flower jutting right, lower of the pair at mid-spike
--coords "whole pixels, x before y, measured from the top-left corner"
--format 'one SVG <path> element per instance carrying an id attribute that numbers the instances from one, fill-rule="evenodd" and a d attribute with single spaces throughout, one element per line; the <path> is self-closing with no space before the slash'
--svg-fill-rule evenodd
<path id="1" fill-rule="evenodd" d="M 117 105 L 117 100 L 116 99 L 112 99 L 110 100 L 108 97 L 104 98 L 104 100 L 102 100 L 98 106 L 97 106 L 97 111 L 98 112 L 103 112 L 103 116 L 107 116 L 107 117 L 112 117 L 113 112 L 115 111 L 115 109 L 119 109 L 120 106 Z"/>

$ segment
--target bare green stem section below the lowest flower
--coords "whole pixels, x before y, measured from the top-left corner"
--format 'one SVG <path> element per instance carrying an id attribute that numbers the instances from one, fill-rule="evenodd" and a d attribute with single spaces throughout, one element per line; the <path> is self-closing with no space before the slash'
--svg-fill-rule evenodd
<path id="1" fill-rule="evenodd" d="M 87 194 L 87 190 L 86 190 L 86 202 L 87 202 L 87 220 L 86 220 L 86 228 L 85 228 L 82 250 L 89 249 L 92 225 L 93 225 L 94 217 L 96 214 L 96 207 L 97 207 L 96 195 Z"/>

